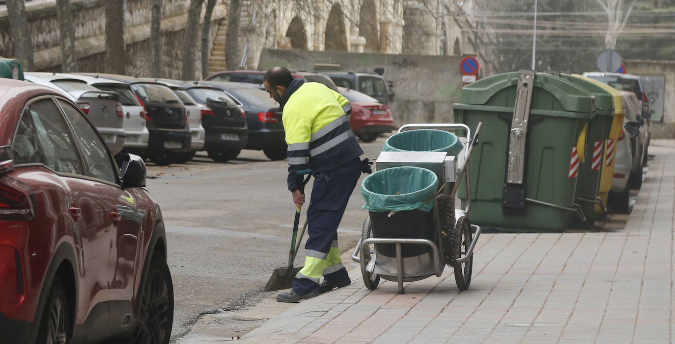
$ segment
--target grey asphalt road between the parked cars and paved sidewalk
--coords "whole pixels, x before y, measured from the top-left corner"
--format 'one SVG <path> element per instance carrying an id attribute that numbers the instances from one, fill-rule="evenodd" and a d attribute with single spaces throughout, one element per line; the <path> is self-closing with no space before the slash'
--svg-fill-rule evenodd
<path id="1" fill-rule="evenodd" d="M 361 158 L 377 158 L 384 140 L 361 143 Z M 226 164 L 205 153 L 168 168 L 148 163 L 147 189 L 161 205 L 167 230 L 173 339 L 185 335 L 202 314 L 269 295 L 263 287 L 273 269 L 286 266 L 295 214 L 287 168 L 285 160 L 272 162 L 262 151 L 250 150 Z M 367 216 L 359 186 L 338 229 L 342 252 L 356 245 Z M 295 264 L 303 262 L 301 248 Z"/>

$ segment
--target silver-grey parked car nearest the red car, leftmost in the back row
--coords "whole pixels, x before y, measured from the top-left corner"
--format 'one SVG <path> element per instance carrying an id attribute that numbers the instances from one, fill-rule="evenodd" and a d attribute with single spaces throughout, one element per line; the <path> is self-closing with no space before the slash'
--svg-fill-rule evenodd
<path id="1" fill-rule="evenodd" d="M 119 94 L 101 91 L 61 73 L 24 73 L 24 79 L 61 91 L 84 111 L 114 154 L 124 148 L 124 111 Z"/>

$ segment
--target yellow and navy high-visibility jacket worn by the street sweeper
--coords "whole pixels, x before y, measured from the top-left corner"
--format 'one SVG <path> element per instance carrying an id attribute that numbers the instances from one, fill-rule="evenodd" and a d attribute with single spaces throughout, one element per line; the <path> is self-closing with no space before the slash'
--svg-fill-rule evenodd
<path id="1" fill-rule="evenodd" d="M 352 133 L 349 101 L 322 83 L 295 79 L 281 104 L 288 143 L 288 189 L 298 188 L 296 172 L 331 170 L 363 153 Z"/>

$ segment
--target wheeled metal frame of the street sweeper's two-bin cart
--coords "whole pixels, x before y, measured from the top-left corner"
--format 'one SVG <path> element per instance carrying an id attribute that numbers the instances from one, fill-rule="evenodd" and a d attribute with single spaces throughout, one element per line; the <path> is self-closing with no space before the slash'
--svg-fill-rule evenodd
<path id="1" fill-rule="evenodd" d="M 468 223 L 468 214 L 471 209 L 471 198 L 467 196 L 466 207 L 464 207 L 464 209 L 454 209 L 454 223 L 445 223 L 446 228 L 450 226 L 455 230 L 454 236 L 448 236 L 448 233 L 445 233 L 445 231 L 443 231 L 441 228 L 442 223 L 441 217 L 439 216 L 439 203 L 441 202 L 439 201 L 441 200 L 441 197 L 445 197 L 443 199 L 445 204 L 441 205 L 441 207 L 448 207 L 447 203 L 448 200 L 450 200 L 450 205 L 452 208 L 454 208 L 454 199 L 456 197 L 462 177 L 464 177 L 466 193 L 467 195 L 470 195 L 468 162 L 473 147 L 478 143 L 478 135 L 481 131 L 482 125 L 482 123 L 479 123 L 478 127 L 476 128 L 475 136 L 473 137 L 471 136 L 471 129 L 464 124 L 414 123 L 404 125 L 398 129 L 398 133 L 414 129 L 443 129 L 446 131 L 464 130 L 466 132 L 466 139 L 460 139 L 463 149 L 462 152 L 458 154 L 458 165 L 461 167 L 457 169 L 456 166 L 453 166 L 459 171 L 456 174 L 454 174 L 454 171 L 445 174 L 442 187 L 439 188 L 437 193 L 437 199 L 433 207 L 434 222 L 436 227 L 435 230 L 437 234 L 435 237 L 436 240 L 370 238 L 370 219 L 367 217 L 364 222 L 361 238 L 356 244 L 356 248 L 352 253 L 352 260 L 356 263 L 360 263 L 364 283 L 369 289 L 375 289 L 379 284 L 380 277 L 382 277 L 389 281 L 396 281 L 398 283 L 398 294 L 405 294 L 405 289 L 403 287 L 404 282 L 418 281 L 420 279 L 430 277 L 431 275 L 440 277 L 443 273 L 445 264 L 448 264 L 455 269 L 455 279 L 458 288 L 461 290 L 468 289 L 473 264 L 473 250 L 476 247 L 479 236 L 481 235 L 481 228 Z M 447 169 L 447 166 L 445 168 Z M 448 176 L 448 174 L 450 174 L 450 176 Z M 454 180 L 450 179 L 453 175 L 456 175 Z M 443 211 L 443 209 L 441 209 L 441 211 Z M 448 211 L 448 209 L 445 209 L 445 211 Z M 458 228 L 458 226 L 461 226 L 462 228 Z M 461 231 L 459 236 L 456 235 L 458 234 L 458 230 Z M 448 238 L 443 240 L 443 236 Z M 452 237 L 452 239 L 450 237 Z M 450 245 L 448 245 L 448 240 L 452 240 Z M 444 241 L 445 244 L 443 244 Z M 395 275 L 378 274 L 375 272 L 377 265 L 377 254 L 374 249 L 374 244 L 394 244 L 396 246 Z M 412 273 L 410 273 L 410 271 L 406 273 L 404 269 L 404 259 L 401 247 L 402 244 L 418 244 L 429 246 L 431 248 L 431 261 L 427 262 L 427 265 L 423 266 L 425 269 L 422 270 L 433 271 L 433 274 L 425 275 L 425 273 L 422 273 L 422 275 L 420 275 L 414 271 Z M 450 248 L 446 246 L 460 248 L 460 251 L 462 252 L 454 251 L 454 254 L 449 256 L 449 254 L 445 254 L 448 252 L 448 250 L 450 250 Z M 462 248 L 463 250 L 461 250 Z"/>

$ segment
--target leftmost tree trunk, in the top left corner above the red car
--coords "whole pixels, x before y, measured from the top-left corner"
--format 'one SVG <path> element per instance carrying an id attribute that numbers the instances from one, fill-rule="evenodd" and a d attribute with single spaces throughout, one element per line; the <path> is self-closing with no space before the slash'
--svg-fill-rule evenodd
<path id="1" fill-rule="evenodd" d="M 7 14 L 14 40 L 14 57 L 21 61 L 24 71 L 33 70 L 33 43 L 30 38 L 30 26 L 26 18 L 24 0 L 7 0 Z"/>

